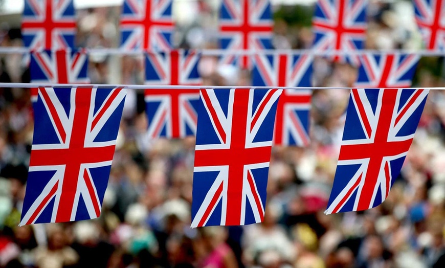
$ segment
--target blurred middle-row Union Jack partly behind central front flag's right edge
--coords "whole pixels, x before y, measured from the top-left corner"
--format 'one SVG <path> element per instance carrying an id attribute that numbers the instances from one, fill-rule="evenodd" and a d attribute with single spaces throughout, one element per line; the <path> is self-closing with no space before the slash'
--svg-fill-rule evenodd
<path id="1" fill-rule="evenodd" d="M 255 55 L 254 86 L 311 86 L 313 56 L 302 54 Z M 284 90 L 278 100 L 275 145 L 309 144 L 310 90 Z"/>

